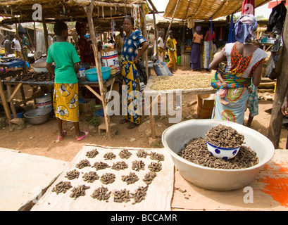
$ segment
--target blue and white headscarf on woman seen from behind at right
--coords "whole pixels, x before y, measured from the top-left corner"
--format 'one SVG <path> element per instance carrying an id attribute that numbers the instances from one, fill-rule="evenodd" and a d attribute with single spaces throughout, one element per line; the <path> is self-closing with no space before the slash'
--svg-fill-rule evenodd
<path id="1" fill-rule="evenodd" d="M 253 38 L 253 32 L 257 28 L 257 20 L 254 15 L 243 14 L 234 25 L 235 38 L 237 41 L 246 44 Z"/>

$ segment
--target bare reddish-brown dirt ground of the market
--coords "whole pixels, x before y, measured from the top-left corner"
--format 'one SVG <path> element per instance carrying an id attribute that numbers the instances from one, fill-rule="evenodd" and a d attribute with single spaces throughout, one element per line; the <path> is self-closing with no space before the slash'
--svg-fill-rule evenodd
<path id="1" fill-rule="evenodd" d="M 204 74 L 206 72 L 192 72 L 186 68 L 178 68 L 174 75 L 190 75 L 192 73 Z M 153 75 L 153 73 L 152 73 Z M 274 96 L 273 92 L 259 92 L 259 98 L 263 96 Z M 189 105 L 196 100 L 196 95 L 182 94 L 182 121 L 198 119 L 196 114 L 196 104 Z M 251 128 L 267 136 L 268 126 L 270 122 L 269 111 L 273 107 L 273 101 L 259 100 L 259 115 L 257 115 L 251 124 Z M 245 124 L 248 119 L 249 110 L 246 111 Z M 63 129 L 67 131 L 65 138 L 61 141 L 56 141 L 58 127 L 55 117 L 51 117 L 49 122 L 40 125 L 32 125 L 25 122 L 25 128 L 18 130 L 9 128 L 8 125 L 0 129 L 0 147 L 19 150 L 21 153 L 28 153 L 32 155 L 43 155 L 57 160 L 64 160 L 70 162 L 73 160 L 78 151 L 85 143 L 96 144 L 100 146 L 113 147 L 141 147 L 141 148 L 159 148 L 163 147 L 161 139 L 149 145 L 149 116 L 144 116 L 143 123 L 134 129 L 127 129 L 127 124 L 120 124 L 122 116 L 111 116 L 111 123 L 115 123 L 112 129 L 111 139 L 108 136 L 100 135 L 98 128 L 89 127 L 87 117 L 91 116 L 89 113 L 82 113 L 80 115 L 80 129 L 89 130 L 89 136 L 82 141 L 76 141 L 75 130 L 73 130 L 73 123 L 65 122 Z M 168 123 L 168 117 L 156 115 L 154 116 L 156 122 L 156 130 L 158 135 L 169 126 L 173 124 Z M 280 137 L 280 148 L 285 148 L 287 129 L 282 129 Z"/>

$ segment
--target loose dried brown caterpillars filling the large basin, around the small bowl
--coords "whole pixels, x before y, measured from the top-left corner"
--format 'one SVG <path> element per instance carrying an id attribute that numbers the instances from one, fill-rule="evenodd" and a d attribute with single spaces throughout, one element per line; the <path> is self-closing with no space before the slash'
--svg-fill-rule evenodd
<path id="1" fill-rule="evenodd" d="M 178 155 L 189 162 L 215 169 L 244 169 L 259 163 L 256 153 L 247 146 L 241 146 L 237 155 L 231 160 L 215 158 L 209 153 L 206 141 L 202 138 L 189 141 Z"/>

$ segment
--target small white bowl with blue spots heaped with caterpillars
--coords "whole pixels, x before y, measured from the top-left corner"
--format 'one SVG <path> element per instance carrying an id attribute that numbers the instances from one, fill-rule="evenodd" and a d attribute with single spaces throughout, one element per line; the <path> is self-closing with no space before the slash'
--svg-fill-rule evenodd
<path id="1" fill-rule="evenodd" d="M 234 158 L 237 153 L 239 152 L 240 146 L 237 148 L 219 148 L 217 146 L 214 146 L 213 144 L 207 143 L 207 148 L 211 155 L 213 155 L 215 158 L 223 159 L 223 160 L 230 160 Z"/>

